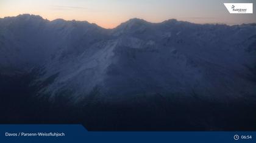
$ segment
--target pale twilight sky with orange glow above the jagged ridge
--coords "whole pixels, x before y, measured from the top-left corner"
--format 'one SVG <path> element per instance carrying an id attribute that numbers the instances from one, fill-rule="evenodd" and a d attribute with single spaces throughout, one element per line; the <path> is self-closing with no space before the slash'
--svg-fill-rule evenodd
<path id="1" fill-rule="evenodd" d="M 256 22 L 256 12 L 230 14 L 224 2 L 254 2 L 255 11 L 256 0 L 0 0 L 0 18 L 29 13 L 49 20 L 88 21 L 104 28 L 116 27 L 130 18 L 230 25 Z"/>

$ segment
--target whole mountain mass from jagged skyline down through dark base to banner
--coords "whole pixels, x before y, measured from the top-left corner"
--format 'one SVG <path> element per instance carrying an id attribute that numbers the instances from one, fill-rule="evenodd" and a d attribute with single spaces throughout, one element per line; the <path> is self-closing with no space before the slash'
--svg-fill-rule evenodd
<path id="1" fill-rule="evenodd" d="M 256 25 L 0 19 L 0 124 L 255 130 Z"/>

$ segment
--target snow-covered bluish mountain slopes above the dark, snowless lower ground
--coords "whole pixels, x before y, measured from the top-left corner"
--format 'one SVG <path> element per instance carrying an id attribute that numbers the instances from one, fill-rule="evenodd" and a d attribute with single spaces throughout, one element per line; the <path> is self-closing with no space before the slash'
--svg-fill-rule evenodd
<path id="1" fill-rule="evenodd" d="M 35 15 L 0 19 L 0 73 L 34 72 L 38 96 L 256 93 L 254 24 L 130 19 L 113 29 Z"/>

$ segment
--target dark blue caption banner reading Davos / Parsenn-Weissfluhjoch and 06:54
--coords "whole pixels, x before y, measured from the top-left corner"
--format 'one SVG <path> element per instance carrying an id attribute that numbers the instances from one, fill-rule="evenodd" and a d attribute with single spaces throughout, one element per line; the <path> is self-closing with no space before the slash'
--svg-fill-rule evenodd
<path id="1" fill-rule="evenodd" d="M 82 125 L 0 125 L 0 142 L 256 142 L 256 131 L 87 131 Z"/>

